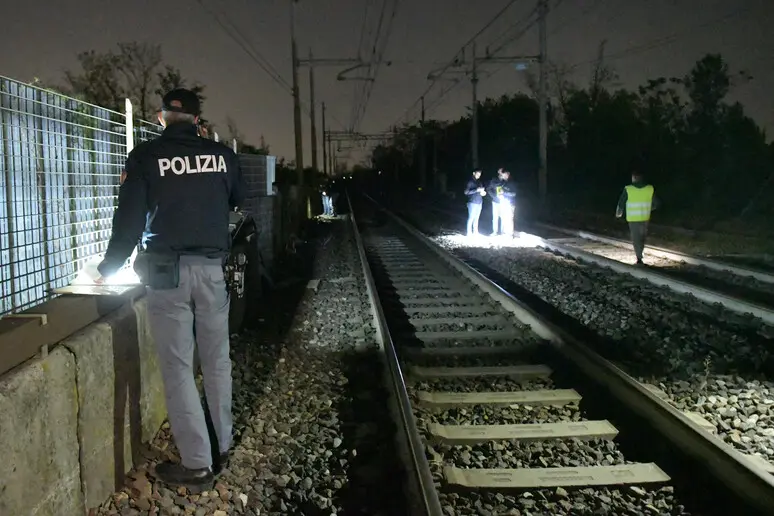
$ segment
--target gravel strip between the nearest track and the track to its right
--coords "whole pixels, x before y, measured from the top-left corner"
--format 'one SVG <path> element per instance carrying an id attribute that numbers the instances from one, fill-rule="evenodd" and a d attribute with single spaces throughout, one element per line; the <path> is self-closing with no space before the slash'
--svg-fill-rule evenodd
<path id="1" fill-rule="evenodd" d="M 702 414 L 740 451 L 774 460 L 772 328 L 545 251 L 438 241 L 606 337 L 605 353 L 676 407 Z"/>

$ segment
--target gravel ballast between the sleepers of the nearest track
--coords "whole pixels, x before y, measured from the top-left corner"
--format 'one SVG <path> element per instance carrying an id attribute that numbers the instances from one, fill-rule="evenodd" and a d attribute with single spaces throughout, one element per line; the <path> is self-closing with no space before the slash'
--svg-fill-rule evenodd
<path id="1" fill-rule="evenodd" d="M 378 234 L 378 231 L 375 231 Z M 366 243 L 375 241 L 369 238 L 368 231 L 365 234 Z M 376 245 L 371 247 L 371 261 L 374 271 L 384 286 L 390 284 L 389 271 L 384 271 L 377 257 L 380 250 Z M 408 253 L 406 253 L 409 256 Z M 431 274 L 432 268 L 426 271 Z M 389 287 L 388 287 L 389 288 Z M 413 293 L 411 289 L 402 287 L 407 294 Z M 458 287 L 459 296 L 479 296 L 480 292 L 472 285 L 462 284 Z M 410 295 L 401 295 L 401 300 L 410 298 Z M 482 297 L 482 301 L 483 301 Z M 453 306 L 453 305 L 452 305 Z M 441 324 L 432 327 L 420 326 L 420 330 L 427 331 L 458 331 L 466 332 L 473 329 L 500 329 L 509 326 L 513 316 L 494 308 L 491 312 L 500 315 L 503 320 L 498 324 L 472 325 L 472 324 Z M 388 310 L 387 318 L 393 321 L 402 321 L 404 315 L 400 308 Z M 411 313 L 410 317 L 419 318 L 418 314 Z M 437 317 L 437 315 L 435 316 Z M 521 327 L 523 325 L 517 324 Z M 443 341 L 425 343 L 426 347 L 455 347 L 462 346 L 524 346 L 531 348 L 539 342 L 536 335 L 523 329 L 523 335 L 506 341 L 487 342 L 487 339 L 475 339 L 471 341 L 456 341 L 454 338 Z M 399 350 L 400 354 L 400 350 Z M 532 362 L 528 357 L 527 363 Z M 415 363 L 407 357 L 403 357 L 404 371 L 411 378 L 410 366 Z M 425 365 L 434 363 L 439 366 L 453 366 L 469 364 L 481 365 L 514 365 L 517 357 L 508 360 L 493 358 L 468 358 L 468 359 L 425 359 L 421 362 Z M 532 362 L 534 363 L 534 362 Z M 409 366 L 409 367 L 406 367 Z M 429 424 L 440 423 L 447 425 L 467 424 L 524 424 L 524 423 L 550 423 L 560 421 L 581 421 L 582 413 L 577 405 L 553 406 L 528 406 L 512 405 L 508 407 L 494 407 L 478 405 L 465 408 L 451 408 L 446 410 L 425 410 L 421 404 L 416 403 L 416 393 L 426 392 L 484 392 L 484 391 L 519 391 L 539 390 L 554 388 L 551 379 L 536 379 L 530 381 L 517 381 L 508 377 L 489 378 L 414 378 L 409 382 L 409 394 L 414 399 L 414 413 L 417 417 L 417 426 L 423 433 L 426 444 L 426 454 L 430 463 L 433 477 L 438 485 L 443 485 L 443 468 L 456 466 L 460 468 L 551 468 L 551 467 L 581 467 L 581 466 L 605 466 L 626 464 L 621 452 L 614 441 L 592 440 L 583 442 L 580 440 L 556 440 L 544 442 L 484 442 L 472 446 L 447 445 L 434 442 L 429 432 Z M 459 495 L 441 489 L 439 493 L 444 512 L 449 515 L 468 514 L 685 514 L 682 506 L 674 499 L 670 487 L 649 487 L 624 489 L 585 489 L 585 490 L 556 490 L 540 489 L 534 493 L 523 493 L 519 496 L 506 494 L 468 494 Z M 491 503 L 490 503 L 491 502 Z"/>

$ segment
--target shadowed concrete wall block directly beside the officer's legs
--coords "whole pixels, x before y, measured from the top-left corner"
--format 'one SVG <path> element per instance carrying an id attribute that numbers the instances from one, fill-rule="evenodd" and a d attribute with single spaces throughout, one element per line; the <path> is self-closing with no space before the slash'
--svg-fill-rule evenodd
<path id="1" fill-rule="evenodd" d="M 145 301 L 126 304 L 61 345 L 75 357 L 86 508 L 120 488 L 166 416 Z"/>

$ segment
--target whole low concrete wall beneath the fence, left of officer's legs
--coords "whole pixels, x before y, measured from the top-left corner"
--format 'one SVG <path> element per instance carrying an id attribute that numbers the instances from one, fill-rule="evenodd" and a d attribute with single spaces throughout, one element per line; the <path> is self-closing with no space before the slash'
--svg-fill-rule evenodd
<path id="1" fill-rule="evenodd" d="M 0 378 L 0 515 L 82 515 L 166 417 L 145 299 Z"/>

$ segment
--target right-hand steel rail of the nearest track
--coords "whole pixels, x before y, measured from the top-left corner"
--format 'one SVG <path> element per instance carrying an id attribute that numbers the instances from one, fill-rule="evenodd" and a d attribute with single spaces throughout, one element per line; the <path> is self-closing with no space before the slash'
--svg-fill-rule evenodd
<path id="1" fill-rule="evenodd" d="M 365 196 L 376 206 L 379 204 Z M 379 206 L 382 210 L 383 207 Z M 691 421 L 682 412 L 651 393 L 618 366 L 582 344 L 564 329 L 545 321 L 529 306 L 497 283 L 454 256 L 427 235 L 388 210 L 384 212 L 447 264 L 468 278 L 532 331 L 546 339 L 589 378 L 604 386 L 633 413 L 647 421 L 660 435 L 686 455 L 702 463 L 716 480 L 732 490 L 749 507 L 774 514 L 774 477 L 749 462 L 740 452 Z"/>

